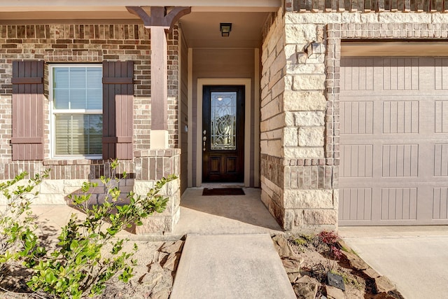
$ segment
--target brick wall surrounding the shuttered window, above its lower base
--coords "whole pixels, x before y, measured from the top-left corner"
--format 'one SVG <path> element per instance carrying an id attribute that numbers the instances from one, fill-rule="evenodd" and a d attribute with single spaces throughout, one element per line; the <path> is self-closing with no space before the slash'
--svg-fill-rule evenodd
<path id="1" fill-rule="evenodd" d="M 179 50 L 177 28 L 174 28 L 173 32 L 167 36 L 167 39 L 169 147 L 177 148 L 179 143 L 177 112 Z M 66 164 L 62 161 L 50 160 L 48 64 L 55 62 L 99 63 L 103 60 L 133 60 L 134 151 L 149 149 L 151 132 L 151 42 L 150 32 L 143 25 L 0 25 L 0 179 L 9 179 L 14 174 L 17 174 L 15 169 L 20 171 L 20 169 L 25 170 L 25 168 L 32 170 L 42 167 L 41 162 L 11 162 L 10 138 L 12 129 L 10 114 L 12 85 L 10 82 L 13 60 L 45 61 L 44 136 L 46 165 L 51 167 L 51 165 Z M 90 162 L 90 160 L 74 161 L 74 164 L 90 165 L 94 163 L 94 165 L 97 165 L 98 162 L 101 164 L 101 161 Z M 32 167 L 26 165 L 32 165 Z M 98 168 L 97 166 L 92 167 L 94 169 Z M 132 165 L 128 165 L 128 167 L 133 168 Z M 67 169 L 67 172 L 71 172 L 71 170 Z M 87 176 L 87 174 L 82 174 L 84 172 L 86 171 L 76 174 L 76 177 L 83 179 Z M 59 174 L 58 176 L 61 175 Z"/>

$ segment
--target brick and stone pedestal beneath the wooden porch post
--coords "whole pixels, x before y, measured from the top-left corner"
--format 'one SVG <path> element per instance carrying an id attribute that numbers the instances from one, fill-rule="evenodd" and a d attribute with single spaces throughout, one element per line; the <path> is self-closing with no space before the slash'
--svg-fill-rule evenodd
<path id="1" fill-rule="evenodd" d="M 137 226 L 135 233 L 164 234 L 173 232 L 174 225 L 178 223 L 180 216 L 181 189 L 179 185 L 180 175 L 180 149 L 148 150 L 134 153 L 135 172 L 134 193 L 146 195 L 153 188 L 155 182 L 175 174 L 178 179 L 165 185 L 160 195 L 169 198 L 167 209 L 162 214 L 155 213 L 143 221 L 143 225 Z"/>

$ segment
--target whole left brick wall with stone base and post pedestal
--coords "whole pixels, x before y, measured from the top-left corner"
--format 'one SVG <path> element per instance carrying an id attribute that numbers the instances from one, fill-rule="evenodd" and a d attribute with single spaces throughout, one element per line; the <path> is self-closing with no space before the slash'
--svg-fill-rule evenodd
<path id="1" fill-rule="evenodd" d="M 168 126 L 169 147 L 165 151 L 149 150 L 151 132 L 151 42 L 150 32 L 137 24 L 59 24 L 0 25 L 0 181 L 12 179 L 20 172 L 31 175 L 51 169 L 50 177 L 41 186 L 37 204 L 66 204 L 67 195 L 78 193 L 83 181 L 99 183 L 92 203 L 104 200 L 105 187 L 100 176 L 111 173 L 107 160 L 62 160 L 50 156 L 50 102 L 48 100 L 49 63 L 101 63 L 134 61 L 134 160 L 122 160 L 118 174 L 128 173 L 120 182 L 122 197 L 134 190 L 146 194 L 162 176 L 179 176 L 180 150 L 178 134 L 179 33 L 177 27 L 167 36 L 168 44 Z M 45 62 L 43 161 L 12 161 L 12 62 L 43 60 Z M 152 225 L 139 228 L 139 233 L 170 232 L 179 220 L 179 179 L 164 191 L 170 197 L 169 207 L 154 216 Z M 0 198 L 1 204 L 1 198 Z"/>

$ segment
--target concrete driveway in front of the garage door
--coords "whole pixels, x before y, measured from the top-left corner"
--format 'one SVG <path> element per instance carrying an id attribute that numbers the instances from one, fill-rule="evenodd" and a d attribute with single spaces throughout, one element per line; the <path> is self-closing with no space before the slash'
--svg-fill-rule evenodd
<path id="1" fill-rule="evenodd" d="M 339 235 L 405 298 L 447 298 L 447 225 L 341 227 Z"/>

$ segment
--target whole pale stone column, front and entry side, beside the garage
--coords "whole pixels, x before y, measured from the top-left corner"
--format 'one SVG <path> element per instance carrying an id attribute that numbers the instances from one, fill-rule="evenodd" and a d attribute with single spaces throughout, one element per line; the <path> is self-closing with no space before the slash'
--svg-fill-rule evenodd
<path id="1" fill-rule="evenodd" d="M 277 15 L 262 48 L 262 201 L 285 230 L 335 229 L 324 25 L 291 15 Z M 311 42 L 322 53 L 307 54 Z"/>

